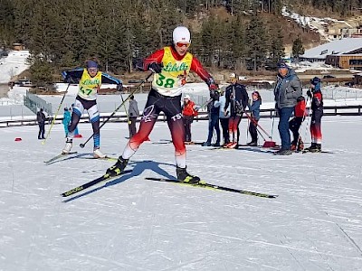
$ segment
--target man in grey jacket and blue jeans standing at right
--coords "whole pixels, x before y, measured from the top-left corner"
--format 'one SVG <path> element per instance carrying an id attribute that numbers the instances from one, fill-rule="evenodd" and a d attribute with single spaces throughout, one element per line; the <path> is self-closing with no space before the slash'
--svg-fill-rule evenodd
<path id="1" fill-rule="evenodd" d="M 290 155 L 291 134 L 289 119 L 297 104 L 297 98 L 302 94 L 301 82 L 294 70 L 291 70 L 284 61 L 278 62 L 277 83 L 274 89 L 275 109 L 279 114 L 279 135 L 281 135 L 281 149 L 275 155 Z"/>

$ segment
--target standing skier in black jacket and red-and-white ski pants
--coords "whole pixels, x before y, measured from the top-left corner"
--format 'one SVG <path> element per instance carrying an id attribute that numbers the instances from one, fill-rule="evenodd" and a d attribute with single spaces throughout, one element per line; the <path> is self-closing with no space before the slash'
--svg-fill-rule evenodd
<path id="1" fill-rule="evenodd" d="M 229 118 L 229 135 L 230 142 L 226 147 L 237 148 L 239 145 L 239 124 L 243 117 L 243 112 L 248 106 L 249 96 L 246 92 L 245 86 L 237 82 L 236 74 L 230 75 L 231 85 L 226 88 L 226 103 L 224 106 L 224 113 L 230 105 L 230 118 Z M 236 136 L 235 136 L 236 134 Z"/>

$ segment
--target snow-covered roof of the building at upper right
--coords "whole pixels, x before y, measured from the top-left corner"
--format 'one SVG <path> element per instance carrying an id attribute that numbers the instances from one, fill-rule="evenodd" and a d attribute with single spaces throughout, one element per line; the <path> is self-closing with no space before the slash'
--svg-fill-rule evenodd
<path id="1" fill-rule="evenodd" d="M 307 50 L 300 58 L 325 60 L 330 54 L 345 54 L 358 49 L 362 49 L 362 38 L 345 38 Z"/>

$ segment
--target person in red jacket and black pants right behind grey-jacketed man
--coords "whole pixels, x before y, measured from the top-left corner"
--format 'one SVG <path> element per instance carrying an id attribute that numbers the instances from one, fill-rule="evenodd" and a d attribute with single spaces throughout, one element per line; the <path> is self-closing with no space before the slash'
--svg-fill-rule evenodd
<path id="1" fill-rule="evenodd" d="M 294 107 L 294 117 L 289 122 L 289 128 L 293 133 L 293 141 L 291 141 L 291 151 L 302 151 L 304 143 L 300 138 L 300 126 L 306 117 L 305 98 L 300 96 L 297 98 L 297 104 Z"/>

